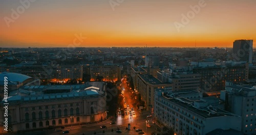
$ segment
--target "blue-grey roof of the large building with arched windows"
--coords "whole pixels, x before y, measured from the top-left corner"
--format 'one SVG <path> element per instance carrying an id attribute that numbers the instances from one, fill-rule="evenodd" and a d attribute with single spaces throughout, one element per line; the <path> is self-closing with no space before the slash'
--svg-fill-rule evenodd
<path id="1" fill-rule="evenodd" d="M 96 86 L 95 86 L 96 85 Z M 21 86 L 15 91 L 10 92 L 8 102 L 39 102 L 40 100 L 67 98 L 83 98 L 102 96 L 105 94 L 102 82 L 89 82 L 88 84 L 79 85 L 37 85 L 37 86 Z M 56 90 L 63 90 L 56 92 Z M 46 91 L 48 91 L 46 93 Z M 54 91 L 54 92 L 51 92 Z M 4 100 L 4 99 L 3 99 Z M 3 102 L 3 101 L 2 101 Z"/>

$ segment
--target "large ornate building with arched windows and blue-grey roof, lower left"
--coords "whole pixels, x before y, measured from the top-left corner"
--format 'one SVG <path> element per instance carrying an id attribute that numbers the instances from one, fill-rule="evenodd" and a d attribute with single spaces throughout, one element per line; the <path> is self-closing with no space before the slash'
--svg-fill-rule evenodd
<path id="1" fill-rule="evenodd" d="M 8 130 L 79 125 L 106 119 L 106 84 L 20 86 L 8 94 Z M 5 113 L 4 100 L 0 112 Z M 0 131 L 4 130 L 0 116 Z"/>

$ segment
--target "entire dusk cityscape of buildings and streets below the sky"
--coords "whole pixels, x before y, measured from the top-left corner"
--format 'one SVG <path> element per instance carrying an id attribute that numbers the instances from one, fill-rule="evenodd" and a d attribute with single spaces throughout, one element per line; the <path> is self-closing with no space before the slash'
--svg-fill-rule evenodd
<path id="1" fill-rule="evenodd" d="M 3 134 L 256 134 L 252 39 L 233 48 L 0 48 L 0 73 Z"/>

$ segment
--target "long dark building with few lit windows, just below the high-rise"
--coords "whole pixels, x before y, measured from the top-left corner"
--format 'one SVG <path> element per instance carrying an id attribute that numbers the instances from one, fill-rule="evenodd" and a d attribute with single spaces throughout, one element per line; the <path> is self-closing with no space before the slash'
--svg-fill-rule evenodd
<path id="1" fill-rule="evenodd" d="M 201 76 L 201 92 L 224 91 L 225 81 L 243 82 L 248 79 L 249 64 L 231 62 L 222 65 L 194 66 L 193 73 Z"/>

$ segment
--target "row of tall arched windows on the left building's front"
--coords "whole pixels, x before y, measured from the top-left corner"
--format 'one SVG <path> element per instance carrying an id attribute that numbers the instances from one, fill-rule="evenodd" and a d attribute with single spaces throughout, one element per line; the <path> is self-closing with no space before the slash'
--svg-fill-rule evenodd
<path id="1" fill-rule="evenodd" d="M 74 109 L 73 108 L 70 109 L 70 115 L 71 116 L 74 115 Z M 79 115 L 79 108 L 78 107 L 76 108 L 76 115 Z M 32 120 L 36 120 L 36 118 L 37 118 L 36 116 L 37 116 L 36 113 L 33 112 L 32 113 Z M 58 110 L 58 117 L 61 117 L 61 116 L 62 116 L 62 111 L 61 111 L 61 109 L 59 109 Z M 63 116 L 68 116 L 68 109 L 64 110 L 64 115 Z M 49 118 L 49 111 L 48 110 L 45 111 L 45 118 L 46 119 Z M 51 118 L 55 118 L 55 110 L 52 110 Z M 38 119 L 42 119 L 42 111 L 39 111 Z M 29 119 L 29 113 L 25 114 L 25 120 L 26 121 L 30 120 Z"/>

